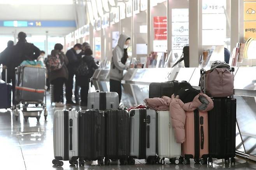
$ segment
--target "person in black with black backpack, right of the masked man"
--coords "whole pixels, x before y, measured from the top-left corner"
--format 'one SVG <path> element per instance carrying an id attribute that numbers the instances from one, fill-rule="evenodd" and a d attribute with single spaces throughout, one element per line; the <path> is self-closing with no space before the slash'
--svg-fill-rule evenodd
<path id="1" fill-rule="evenodd" d="M 98 66 L 94 61 L 94 58 L 92 57 L 93 51 L 91 50 L 91 48 L 86 48 L 84 50 L 84 55 L 85 56 L 81 58 L 81 61 L 79 63 L 86 62 L 86 65 L 89 70 L 89 74 L 85 76 L 76 75 L 77 85 L 81 87 L 81 91 L 80 91 L 81 106 L 87 106 L 87 97 L 88 97 L 88 90 L 89 90 L 88 80 L 93 76 L 93 73 L 95 72 L 95 70 L 98 69 Z"/>

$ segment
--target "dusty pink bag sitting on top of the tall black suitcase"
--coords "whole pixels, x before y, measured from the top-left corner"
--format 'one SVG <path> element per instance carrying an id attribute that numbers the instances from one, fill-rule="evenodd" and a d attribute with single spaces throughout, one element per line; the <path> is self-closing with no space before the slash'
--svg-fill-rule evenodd
<path id="1" fill-rule="evenodd" d="M 210 97 L 228 97 L 234 94 L 234 77 L 225 68 L 215 68 L 210 73 L 206 71 L 205 85 L 206 94 Z"/>

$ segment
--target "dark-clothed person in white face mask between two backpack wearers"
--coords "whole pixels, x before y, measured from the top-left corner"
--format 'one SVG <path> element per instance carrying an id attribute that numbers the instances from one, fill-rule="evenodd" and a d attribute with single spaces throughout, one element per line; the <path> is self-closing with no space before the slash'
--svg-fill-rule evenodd
<path id="1" fill-rule="evenodd" d="M 81 57 L 80 53 L 82 51 L 82 45 L 77 43 L 74 45 L 74 47 L 67 51 L 66 56 L 68 58 L 68 80 L 65 82 L 66 86 L 66 104 L 67 105 L 76 105 L 79 103 L 75 103 L 72 101 L 72 89 L 73 89 L 73 79 L 75 75 L 75 69 L 77 68 L 79 64 L 79 57 Z M 78 102 L 79 99 L 79 92 L 78 92 L 78 86 L 75 85 L 75 101 Z"/>

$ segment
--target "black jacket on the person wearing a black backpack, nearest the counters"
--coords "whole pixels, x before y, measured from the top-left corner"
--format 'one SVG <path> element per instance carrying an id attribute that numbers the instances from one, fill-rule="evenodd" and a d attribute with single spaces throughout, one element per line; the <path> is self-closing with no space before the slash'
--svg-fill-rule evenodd
<path id="1" fill-rule="evenodd" d="M 96 65 L 94 58 L 92 56 L 84 56 L 82 59 L 79 60 L 79 63 L 86 62 L 88 69 L 89 69 L 89 75 L 88 76 L 76 76 L 76 83 L 79 86 L 85 86 L 89 83 L 88 79 L 91 78 L 95 72 L 96 69 L 98 69 L 98 66 Z"/>

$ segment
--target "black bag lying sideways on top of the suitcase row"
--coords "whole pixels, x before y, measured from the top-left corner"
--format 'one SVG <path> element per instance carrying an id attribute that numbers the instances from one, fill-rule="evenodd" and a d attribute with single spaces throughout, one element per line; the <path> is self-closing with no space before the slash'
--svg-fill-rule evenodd
<path id="1" fill-rule="evenodd" d="M 171 82 L 150 83 L 149 98 L 162 97 L 164 95 L 168 97 L 172 97 L 172 94 L 177 95 L 177 92 L 179 91 L 179 89 L 183 87 L 192 88 L 191 85 L 186 81 L 178 82 L 174 80 Z"/>

